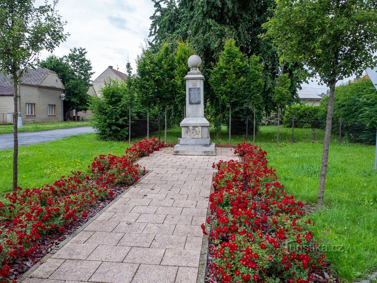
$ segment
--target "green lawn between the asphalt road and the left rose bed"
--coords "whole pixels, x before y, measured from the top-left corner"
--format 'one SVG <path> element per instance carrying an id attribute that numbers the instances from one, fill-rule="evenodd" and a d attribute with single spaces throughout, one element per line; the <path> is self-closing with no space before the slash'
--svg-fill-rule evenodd
<path id="1" fill-rule="evenodd" d="M 18 186 L 32 188 L 51 184 L 71 170 L 87 170 L 97 155 L 123 155 L 128 147 L 124 142 L 98 141 L 96 134 L 20 146 Z M 0 151 L 0 199 L 12 190 L 12 155 L 13 149 Z"/>

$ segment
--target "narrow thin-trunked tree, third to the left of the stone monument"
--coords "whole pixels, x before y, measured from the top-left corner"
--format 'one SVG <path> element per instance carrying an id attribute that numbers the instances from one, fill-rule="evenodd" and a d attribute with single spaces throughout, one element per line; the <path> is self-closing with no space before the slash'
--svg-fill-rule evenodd
<path id="1" fill-rule="evenodd" d="M 137 58 L 137 76 L 134 82 L 135 92 L 138 95 L 141 105 L 147 107 L 147 137 L 149 137 L 149 110 L 156 105 L 156 76 L 158 67 L 156 65 L 156 55 L 152 49 L 144 49 Z"/>

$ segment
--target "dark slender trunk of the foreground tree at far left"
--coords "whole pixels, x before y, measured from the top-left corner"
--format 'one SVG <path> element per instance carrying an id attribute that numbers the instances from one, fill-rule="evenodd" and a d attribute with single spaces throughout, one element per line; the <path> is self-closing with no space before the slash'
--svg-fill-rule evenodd
<path id="1" fill-rule="evenodd" d="M 18 77 L 17 74 L 12 74 L 14 78 Z M 18 78 L 19 79 L 19 78 Z M 12 181 L 12 189 L 13 191 L 17 188 L 17 175 L 18 175 L 18 82 L 14 80 L 13 82 L 14 88 L 14 113 L 13 113 L 13 181 Z"/>

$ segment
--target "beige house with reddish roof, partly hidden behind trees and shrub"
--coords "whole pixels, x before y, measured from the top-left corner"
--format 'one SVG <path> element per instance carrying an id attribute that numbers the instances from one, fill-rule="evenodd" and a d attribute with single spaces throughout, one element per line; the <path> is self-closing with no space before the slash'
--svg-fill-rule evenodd
<path id="1" fill-rule="evenodd" d="M 118 70 L 113 69 L 113 66 L 109 66 L 95 80 L 93 80 L 93 82 L 91 82 L 92 86 L 90 86 L 87 94 L 101 97 L 100 90 L 105 85 L 104 82 L 109 78 L 111 78 L 112 80 L 126 80 L 127 74 L 124 74 Z M 72 114 L 72 116 L 79 115 L 80 117 L 86 117 L 86 118 L 92 117 L 91 111 L 80 111 L 77 113 L 72 112 L 70 114 Z"/>

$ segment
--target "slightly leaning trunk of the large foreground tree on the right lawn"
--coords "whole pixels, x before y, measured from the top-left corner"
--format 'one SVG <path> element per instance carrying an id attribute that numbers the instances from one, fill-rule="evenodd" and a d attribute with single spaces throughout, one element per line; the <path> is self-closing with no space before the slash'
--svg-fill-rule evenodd
<path id="1" fill-rule="evenodd" d="M 323 140 L 321 173 L 319 176 L 318 200 L 317 200 L 317 206 L 319 209 L 322 208 L 323 206 L 323 198 L 325 195 L 325 180 L 326 180 L 326 171 L 327 171 L 327 161 L 328 161 L 328 156 L 329 156 L 331 124 L 333 122 L 334 95 L 335 95 L 335 82 L 331 83 L 330 85 L 329 103 L 328 103 L 327 117 L 326 117 L 325 139 Z"/>

